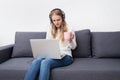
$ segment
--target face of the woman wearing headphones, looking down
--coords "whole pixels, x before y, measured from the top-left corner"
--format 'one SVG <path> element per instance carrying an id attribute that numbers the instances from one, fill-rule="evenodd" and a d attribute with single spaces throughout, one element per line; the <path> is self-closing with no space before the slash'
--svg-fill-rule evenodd
<path id="1" fill-rule="evenodd" d="M 55 25 L 55 27 L 60 28 L 61 24 L 62 24 L 62 17 L 56 14 L 53 14 L 52 17 L 52 22 Z"/>

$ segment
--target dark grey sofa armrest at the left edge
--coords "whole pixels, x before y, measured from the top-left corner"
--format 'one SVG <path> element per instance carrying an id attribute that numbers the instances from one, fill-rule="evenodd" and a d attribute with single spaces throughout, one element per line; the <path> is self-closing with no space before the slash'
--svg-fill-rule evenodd
<path id="1" fill-rule="evenodd" d="M 14 44 L 0 47 L 0 64 L 11 58 Z"/>

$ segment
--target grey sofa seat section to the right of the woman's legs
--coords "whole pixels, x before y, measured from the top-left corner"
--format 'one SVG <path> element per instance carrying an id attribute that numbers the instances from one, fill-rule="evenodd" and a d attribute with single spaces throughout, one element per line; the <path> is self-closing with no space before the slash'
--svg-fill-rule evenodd
<path id="1" fill-rule="evenodd" d="M 53 69 L 51 80 L 120 80 L 120 59 L 76 58 Z"/>

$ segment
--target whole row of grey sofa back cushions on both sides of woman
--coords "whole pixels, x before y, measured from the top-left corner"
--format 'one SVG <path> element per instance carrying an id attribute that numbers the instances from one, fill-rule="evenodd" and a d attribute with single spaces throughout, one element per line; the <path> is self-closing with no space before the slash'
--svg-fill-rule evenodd
<path id="1" fill-rule="evenodd" d="M 75 31 L 77 47 L 72 50 L 74 58 L 120 58 L 120 31 Z M 12 57 L 32 57 L 30 39 L 44 39 L 46 32 L 16 32 Z"/>

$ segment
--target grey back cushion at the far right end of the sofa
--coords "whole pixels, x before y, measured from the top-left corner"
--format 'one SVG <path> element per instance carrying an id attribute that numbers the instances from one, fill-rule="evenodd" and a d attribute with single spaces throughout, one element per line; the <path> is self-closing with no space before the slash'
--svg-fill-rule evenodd
<path id="1" fill-rule="evenodd" d="M 93 32 L 92 52 L 96 58 L 120 57 L 120 32 Z"/>

